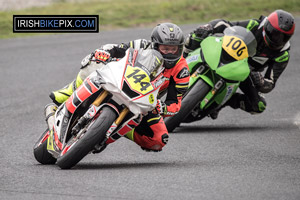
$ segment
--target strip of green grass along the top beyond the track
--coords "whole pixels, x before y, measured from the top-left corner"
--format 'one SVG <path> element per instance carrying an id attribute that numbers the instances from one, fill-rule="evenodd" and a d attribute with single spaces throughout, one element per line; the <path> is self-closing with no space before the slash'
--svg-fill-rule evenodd
<path id="1" fill-rule="evenodd" d="M 57 0 L 46 7 L 0 12 L 0 38 L 36 34 L 13 33 L 13 15 L 99 15 L 100 31 L 153 27 L 161 22 L 178 25 L 205 23 L 216 18 L 243 20 L 268 15 L 276 9 L 300 15 L 300 0 Z"/>

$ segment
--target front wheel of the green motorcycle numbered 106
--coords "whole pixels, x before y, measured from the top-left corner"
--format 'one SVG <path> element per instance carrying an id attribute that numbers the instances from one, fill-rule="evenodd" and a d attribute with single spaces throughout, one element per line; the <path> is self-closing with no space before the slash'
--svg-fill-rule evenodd
<path id="1" fill-rule="evenodd" d="M 191 111 L 203 100 L 211 87 L 202 79 L 199 79 L 193 87 L 187 91 L 181 102 L 179 112 L 172 116 L 165 118 L 165 124 L 169 132 L 180 125 L 180 123 L 191 113 Z"/>

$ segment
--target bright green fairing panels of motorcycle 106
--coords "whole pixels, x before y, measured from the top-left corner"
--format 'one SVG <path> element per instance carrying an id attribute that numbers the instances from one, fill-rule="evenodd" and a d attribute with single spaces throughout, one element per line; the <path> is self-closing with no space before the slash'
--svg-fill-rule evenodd
<path id="1" fill-rule="evenodd" d="M 244 81 L 249 73 L 248 59 L 230 62 L 228 64 L 220 63 L 222 53 L 222 37 L 208 37 L 201 43 L 201 47 L 191 52 L 187 57 L 187 63 L 190 73 L 195 71 L 195 67 L 208 65 L 202 73 L 194 72 L 190 78 L 190 87 L 199 79 L 203 79 L 212 90 L 201 102 L 201 109 L 207 108 L 213 103 L 212 98 L 217 104 L 223 105 L 237 90 L 240 81 Z M 219 76 L 219 77 L 218 77 Z M 224 89 L 214 93 L 215 84 L 220 78 L 229 80 L 225 82 Z"/>

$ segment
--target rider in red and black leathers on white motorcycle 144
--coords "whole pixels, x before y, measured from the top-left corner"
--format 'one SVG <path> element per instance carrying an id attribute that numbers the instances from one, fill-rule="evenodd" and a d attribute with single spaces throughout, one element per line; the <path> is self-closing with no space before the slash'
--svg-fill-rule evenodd
<path id="1" fill-rule="evenodd" d="M 182 95 L 186 92 L 189 84 L 189 70 L 185 58 L 182 56 L 184 36 L 182 30 L 175 24 L 158 24 L 151 33 L 151 41 L 138 39 L 129 43 L 107 44 L 87 55 L 81 62 L 81 70 L 76 79 L 65 88 L 53 91 L 50 98 L 56 104 L 61 104 L 81 85 L 83 80 L 97 66 L 90 65 L 91 59 L 107 61 L 110 57 L 122 58 L 128 48 L 148 49 L 159 51 L 164 58 L 163 75 L 166 81 L 161 87 L 159 97 L 166 94 L 166 100 L 158 100 L 156 110 L 144 116 L 138 126 L 131 127 L 126 135 L 144 150 L 161 151 L 168 142 L 168 131 L 162 116 L 175 115 L 181 107 Z M 110 137 L 106 144 L 114 142 L 118 138 Z"/>

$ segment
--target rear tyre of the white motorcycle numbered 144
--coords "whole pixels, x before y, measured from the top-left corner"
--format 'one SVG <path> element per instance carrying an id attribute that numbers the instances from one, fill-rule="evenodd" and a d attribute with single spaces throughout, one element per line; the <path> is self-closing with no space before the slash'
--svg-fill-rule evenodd
<path id="1" fill-rule="evenodd" d="M 56 163 L 56 159 L 47 150 L 47 138 L 49 130 L 47 129 L 35 143 L 33 147 L 33 155 L 35 159 L 43 165 L 51 165 Z"/>

